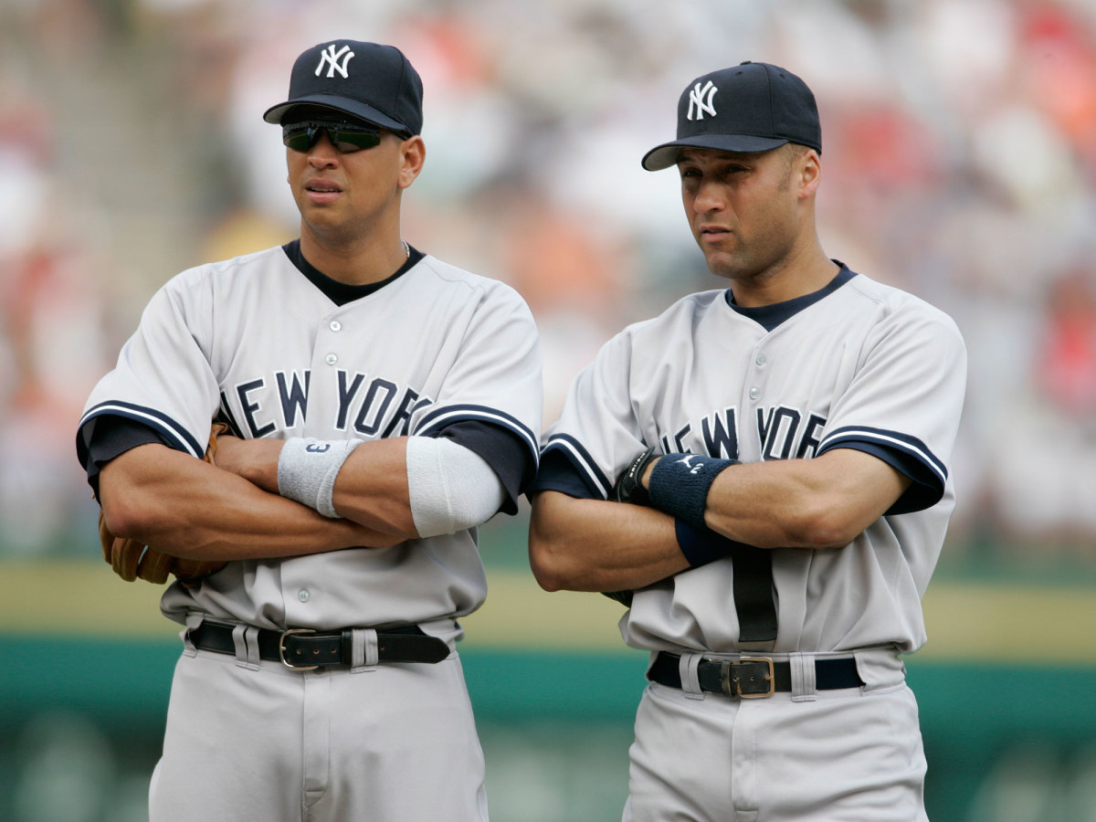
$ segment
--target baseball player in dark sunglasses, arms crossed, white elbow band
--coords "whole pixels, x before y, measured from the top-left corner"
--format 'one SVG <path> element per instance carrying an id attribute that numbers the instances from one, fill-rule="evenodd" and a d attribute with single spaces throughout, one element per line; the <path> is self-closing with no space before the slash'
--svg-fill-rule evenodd
<path id="1" fill-rule="evenodd" d="M 264 118 L 299 239 L 172 278 L 80 420 L 116 567 L 190 563 L 150 817 L 487 820 L 454 643 L 477 526 L 536 472 L 536 328 L 400 238 L 425 148 L 398 49 L 309 48 Z"/>

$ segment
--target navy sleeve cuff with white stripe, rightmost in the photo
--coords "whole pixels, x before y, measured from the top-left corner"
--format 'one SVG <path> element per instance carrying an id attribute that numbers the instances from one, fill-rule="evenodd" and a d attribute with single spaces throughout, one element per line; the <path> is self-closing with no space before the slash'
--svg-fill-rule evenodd
<path id="1" fill-rule="evenodd" d="M 947 467 L 917 437 L 883 429 L 847 426 L 825 437 L 818 455 L 834 448 L 854 448 L 871 454 L 913 480 L 913 484 L 887 511 L 888 514 L 923 511 L 944 496 Z"/>

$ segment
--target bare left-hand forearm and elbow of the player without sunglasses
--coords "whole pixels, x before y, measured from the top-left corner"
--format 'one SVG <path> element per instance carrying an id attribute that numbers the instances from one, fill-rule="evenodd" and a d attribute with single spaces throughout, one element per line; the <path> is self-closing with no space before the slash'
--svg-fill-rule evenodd
<path id="1" fill-rule="evenodd" d="M 529 562 L 548 591 L 639 589 L 689 567 L 666 514 L 555 491 L 533 502 Z"/>

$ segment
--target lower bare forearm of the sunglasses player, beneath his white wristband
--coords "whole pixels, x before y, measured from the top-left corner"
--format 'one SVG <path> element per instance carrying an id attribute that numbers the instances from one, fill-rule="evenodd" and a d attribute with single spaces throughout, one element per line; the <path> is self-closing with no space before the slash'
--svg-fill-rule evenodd
<path id="1" fill-rule="evenodd" d="M 400 541 L 323 517 L 160 445 L 134 448 L 104 466 L 100 496 L 112 533 L 176 557 L 289 557 Z"/>

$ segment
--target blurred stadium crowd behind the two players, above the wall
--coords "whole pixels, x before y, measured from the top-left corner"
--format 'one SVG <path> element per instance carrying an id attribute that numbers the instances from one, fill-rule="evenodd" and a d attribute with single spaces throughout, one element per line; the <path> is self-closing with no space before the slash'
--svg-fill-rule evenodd
<path id="1" fill-rule="evenodd" d="M 0 1 L 0 556 L 95 553 L 87 395 L 170 276 L 296 236 L 261 115 L 339 36 L 422 75 L 404 237 L 526 297 L 546 422 L 624 323 L 722 286 L 639 165 L 681 90 L 799 73 L 823 247 L 967 339 L 945 567 L 1096 569 L 1092 0 Z"/>

